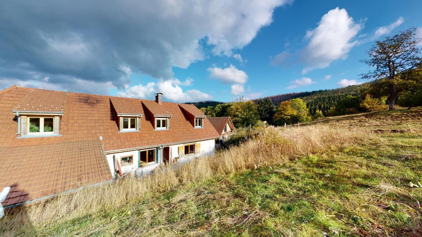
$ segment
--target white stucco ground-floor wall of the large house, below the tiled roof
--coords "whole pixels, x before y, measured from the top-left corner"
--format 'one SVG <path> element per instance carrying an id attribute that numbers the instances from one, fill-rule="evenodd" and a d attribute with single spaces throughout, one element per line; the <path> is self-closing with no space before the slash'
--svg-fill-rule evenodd
<path id="1" fill-rule="evenodd" d="M 200 145 L 201 151 L 199 153 L 179 157 L 179 150 L 178 150 L 179 146 L 196 144 L 196 143 L 201 144 Z M 160 149 L 160 153 L 161 152 L 162 152 L 162 150 Z M 171 145 L 170 146 L 170 156 L 173 159 L 176 158 L 176 157 L 179 157 L 178 162 L 186 162 L 186 161 L 189 161 L 189 160 L 191 160 L 192 158 L 195 158 L 195 157 L 214 155 L 214 153 L 215 153 L 215 141 L 214 141 L 214 139 L 206 140 L 206 141 L 199 141 L 199 142 L 195 142 L 195 143 L 189 142 L 189 143 L 186 143 L 186 144 L 177 144 L 177 145 Z M 121 157 L 129 156 L 129 155 L 133 156 L 133 164 L 132 165 L 121 166 L 122 173 L 135 172 L 136 171 L 136 174 L 138 174 L 138 175 L 148 174 L 148 173 L 151 172 L 151 170 L 153 170 L 154 168 L 156 168 L 159 165 L 159 164 L 155 163 L 155 164 L 152 164 L 152 165 L 147 165 L 147 166 L 142 167 L 142 168 L 138 168 L 138 150 L 130 151 L 130 152 L 119 152 L 119 153 L 114 153 L 114 154 L 107 154 L 106 158 L 107 158 L 108 166 L 110 167 L 111 175 L 114 175 L 113 155 L 116 156 L 116 160 L 117 160 L 117 162 L 119 162 L 119 164 L 120 164 L 120 158 Z M 159 157 L 161 157 L 161 154 L 159 154 Z M 160 163 L 162 163 L 161 158 L 160 158 Z"/>

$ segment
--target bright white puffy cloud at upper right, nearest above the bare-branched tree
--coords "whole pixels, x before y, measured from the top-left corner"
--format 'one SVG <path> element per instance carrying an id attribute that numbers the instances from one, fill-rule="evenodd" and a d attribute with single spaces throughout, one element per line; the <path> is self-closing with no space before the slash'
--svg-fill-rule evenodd
<path id="1" fill-rule="evenodd" d="M 354 40 L 363 23 L 354 22 L 346 9 L 335 8 L 322 16 L 318 26 L 308 30 L 304 40 L 308 45 L 296 52 L 284 51 L 276 55 L 272 65 L 291 66 L 298 63 L 305 66 L 302 73 L 326 68 L 331 62 L 346 59 L 349 51 L 357 44 Z"/>

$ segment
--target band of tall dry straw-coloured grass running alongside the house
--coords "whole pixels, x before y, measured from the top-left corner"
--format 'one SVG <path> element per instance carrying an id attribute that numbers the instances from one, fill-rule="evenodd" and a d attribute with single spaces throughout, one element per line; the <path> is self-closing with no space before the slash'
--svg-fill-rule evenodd
<path id="1" fill-rule="evenodd" d="M 265 128 L 240 146 L 197 158 L 179 166 L 161 166 L 150 176 L 127 177 L 113 183 L 82 189 L 54 199 L 34 203 L 20 211 L 8 210 L 0 225 L 15 229 L 28 224 L 42 227 L 54 221 L 65 221 L 109 208 L 118 208 L 143 197 L 148 192 L 173 189 L 211 176 L 283 163 L 295 157 L 325 152 L 335 147 L 359 144 L 370 136 L 363 130 L 346 130 L 330 125 L 300 128 Z M 26 223 L 24 223 L 26 222 Z"/>

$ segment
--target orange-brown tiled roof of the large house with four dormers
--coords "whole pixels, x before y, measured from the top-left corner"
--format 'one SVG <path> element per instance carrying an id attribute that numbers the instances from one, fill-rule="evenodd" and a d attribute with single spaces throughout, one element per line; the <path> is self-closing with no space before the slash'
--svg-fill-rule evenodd
<path id="1" fill-rule="evenodd" d="M 31 95 L 35 95 L 36 101 L 32 102 Z M 54 97 L 52 95 L 57 96 L 57 101 L 51 99 Z M 134 101 L 137 100 L 115 98 L 22 87 L 1 91 L 0 189 L 14 186 L 8 200 L 3 204 L 12 205 L 77 186 L 107 181 L 111 179 L 111 172 L 105 154 L 112 151 L 207 140 L 220 136 L 206 119 L 203 129 L 194 129 L 189 118 L 182 112 L 180 104 L 168 102 L 162 102 L 160 107 L 168 115 L 173 115 L 170 118 L 170 129 L 154 130 L 154 118 L 150 117 L 146 104 L 154 106 L 155 101 L 141 100 L 142 106 L 138 111 L 129 111 L 126 105 L 136 103 Z M 112 104 L 118 100 L 123 100 L 121 104 L 120 101 L 117 102 L 119 106 L 123 105 L 118 106 L 119 111 L 143 114 L 141 130 L 119 132 Z M 16 135 L 17 121 L 12 111 L 25 102 L 28 108 L 34 106 L 34 109 L 36 104 L 41 105 L 37 109 L 47 107 L 46 105 L 60 108 L 62 105 L 62 109 L 56 110 L 64 110 L 60 120 L 61 136 L 18 138 L 20 135 Z"/>

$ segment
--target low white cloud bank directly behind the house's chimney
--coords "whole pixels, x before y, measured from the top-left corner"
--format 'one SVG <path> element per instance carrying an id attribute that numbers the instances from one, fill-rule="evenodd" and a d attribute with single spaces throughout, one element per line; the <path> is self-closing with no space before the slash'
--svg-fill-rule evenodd
<path id="1" fill-rule="evenodd" d="M 152 99 L 155 93 L 160 92 L 163 93 L 163 97 L 165 99 L 175 102 L 201 101 L 212 99 L 212 96 L 198 90 L 188 90 L 184 92 L 183 89 L 180 87 L 180 85 L 182 84 L 183 83 L 181 83 L 180 80 L 175 78 L 170 80 L 160 80 L 157 83 L 150 82 L 145 86 L 143 86 L 142 84 L 134 85 L 130 88 L 127 88 L 125 91 L 119 91 L 118 94 L 119 96 L 123 97 Z"/>

